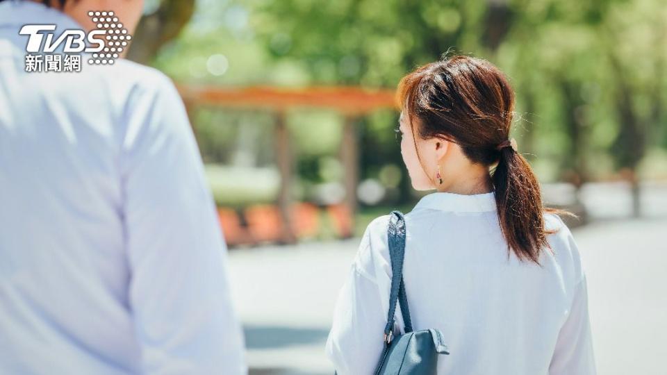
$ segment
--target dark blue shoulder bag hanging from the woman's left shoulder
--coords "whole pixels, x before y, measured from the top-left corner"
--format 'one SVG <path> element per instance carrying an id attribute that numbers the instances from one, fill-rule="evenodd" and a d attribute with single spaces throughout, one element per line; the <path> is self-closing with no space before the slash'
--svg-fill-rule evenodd
<path id="1" fill-rule="evenodd" d="M 399 211 L 391 213 L 388 240 L 392 269 L 389 315 L 384 328 L 384 351 L 375 375 L 436 375 L 438 355 L 449 354 L 449 349 L 443 344 L 443 334 L 437 329 L 412 331 L 408 299 L 403 282 L 405 218 Z M 397 302 L 400 303 L 405 333 L 394 337 L 394 313 Z"/>

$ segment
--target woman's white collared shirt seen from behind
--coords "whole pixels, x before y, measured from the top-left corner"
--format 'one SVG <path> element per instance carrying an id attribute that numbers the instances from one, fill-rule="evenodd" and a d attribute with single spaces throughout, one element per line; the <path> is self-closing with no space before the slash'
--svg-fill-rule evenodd
<path id="1" fill-rule="evenodd" d="M 593 375 L 586 278 L 559 217 L 545 215 L 554 253 L 509 255 L 493 192 L 423 197 L 406 217 L 404 280 L 415 331 L 438 328 L 438 374 Z M 391 266 L 389 216 L 366 229 L 340 291 L 327 355 L 339 375 L 372 374 L 383 349 Z M 397 308 L 397 329 L 403 320 Z"/>

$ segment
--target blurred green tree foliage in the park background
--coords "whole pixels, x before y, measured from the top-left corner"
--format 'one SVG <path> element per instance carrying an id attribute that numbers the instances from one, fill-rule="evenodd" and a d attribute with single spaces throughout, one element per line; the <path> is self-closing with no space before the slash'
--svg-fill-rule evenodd
<path id="1" fill-rule="evenodd" d="M 643 160 L 654 155 L 649 151 L 667 146 L 662 0 L 199 0 L 197 5 L 199 17 L 158 55 L 158 67 L 179 81 L 394 88 L 406 72 L 447 51 L 473 53 L 509 76 L 518 99 L 514 136 L 542 181 L 578 186 L 625 176 L 637 188 Z M 220 54 L 229 60 L 225 74 L 209 69 Z M 227 117 L 215 117 L 217 124 Z M 377 113 L 359 124 L 362 180 L 402 165 L 392 133 L 396 113 Z M 312 149 L 306 140 L 311 131 L 291 129 L 297 147 Z M 320 159 L 335 149 L 330 144 L 323 149 L 328 151 L 304 153 L 297 166 L 302 178 L 322 181 Z M 400 194 L 390 195 L 408 199 L 411 189 L 402 173 Z"/>

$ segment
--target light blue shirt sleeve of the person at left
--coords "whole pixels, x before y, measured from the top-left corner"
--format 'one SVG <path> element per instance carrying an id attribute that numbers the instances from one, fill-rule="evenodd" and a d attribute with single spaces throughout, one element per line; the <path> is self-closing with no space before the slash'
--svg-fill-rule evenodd
<path id="1" fill-rule="evenodd" d="M 130 95 L 120 160 L 142 374 L 246 374 L 197 144 L 174 85 L 155 81 Z"/>

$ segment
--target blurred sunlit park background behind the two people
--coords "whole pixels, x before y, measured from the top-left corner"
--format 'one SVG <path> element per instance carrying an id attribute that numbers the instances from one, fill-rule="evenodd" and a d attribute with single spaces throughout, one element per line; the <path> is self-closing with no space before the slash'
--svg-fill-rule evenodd
<path id="1" fill-rule="evenodd" d="M 420 197 L 395 87 L 443 53 L 509 76 L 519 151 L 546 203 L 579 215 L 599 373 L 665 374 L 664 0 L 147 0 L 129 58 L 188 108 L 251 374 L 331 374 L 358 236 Z"/>

